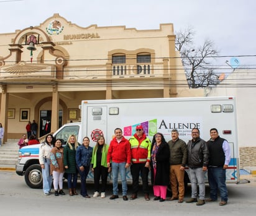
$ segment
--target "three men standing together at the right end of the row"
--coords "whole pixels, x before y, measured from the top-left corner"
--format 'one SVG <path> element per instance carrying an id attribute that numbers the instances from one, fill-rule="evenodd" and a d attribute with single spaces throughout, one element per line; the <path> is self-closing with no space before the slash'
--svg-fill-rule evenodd
<path id="1" fill-rule="evenodd" d="M 168 200 L 184 199 L 185 166 L 188 165 L 191 181 L 191 198 L 186 203 L 196 202 L 204 205 L 205 202 L 217 201 L 219 190 L 221 202 L 227 204 L 226 169 L 231 160 L 231 150 L 227 140 L 219 137 L 216 128 L 210 130 L 211 139 L 208 142 L 200 138 L 200 131 L 194 128 L 191 131 L 192 139 L 186 144 L 179 139 L 176 129 L 171 131 L 170 147 L 170 183 L 172 196 Z M 205 199 L 204 175 L 208 170 L 210 197 Z M 198 188 L 199 194 L 198 194 Z M 199 196 L 199 199 L 197 199 Z"/>

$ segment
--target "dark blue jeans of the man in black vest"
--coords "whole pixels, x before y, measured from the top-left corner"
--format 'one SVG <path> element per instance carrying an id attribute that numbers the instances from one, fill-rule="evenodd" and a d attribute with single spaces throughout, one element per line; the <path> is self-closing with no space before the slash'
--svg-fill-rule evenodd
<path id="1" fill-rule="evenodd" d="M 221 201 L 227 202 L 226 170 L 222 167 L 209 166 L 208 181 L 211 199 L 217 200 L 217 189 L 219 189 Z"/>

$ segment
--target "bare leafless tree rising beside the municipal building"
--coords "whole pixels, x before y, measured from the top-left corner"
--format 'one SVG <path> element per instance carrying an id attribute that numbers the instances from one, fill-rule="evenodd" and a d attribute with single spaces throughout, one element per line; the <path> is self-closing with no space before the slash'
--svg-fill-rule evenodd
<path id="1" fill-rule="evenodd" d="M 214 49 L 213 41 L 205 40 L 203 46 L 193 48 L 193 37 L 194 32 L 191 28 L 176 33 L 175 48 L 180 51 L 188 85 L 192 89 L 197 89 L 218 84 L 217 74 L 209 67 L 210 57 L 218 53 Z"/>

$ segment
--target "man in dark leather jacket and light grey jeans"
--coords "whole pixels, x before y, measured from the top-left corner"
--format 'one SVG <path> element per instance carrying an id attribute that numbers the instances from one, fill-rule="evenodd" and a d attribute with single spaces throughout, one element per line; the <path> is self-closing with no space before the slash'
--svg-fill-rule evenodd
<path id="1" fill-rule="evenodd" d="M 203 205 L 205 199 L 204 174 L 209 162 L 209 150 L 206 142 L 200 138 L 198 128 L 192 129 L 192 139 L 188 141 L 188 167 L 191 181 L 191 198 L 186 202 L 196 202 L 196 205 Z M 199 186 L 199 200 L 197 200 Z"/>

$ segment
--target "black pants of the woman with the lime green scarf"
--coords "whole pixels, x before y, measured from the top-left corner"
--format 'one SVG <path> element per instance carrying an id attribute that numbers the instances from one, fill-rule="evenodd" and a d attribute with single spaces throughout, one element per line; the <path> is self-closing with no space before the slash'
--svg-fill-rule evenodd
<path id="1" fill-rule="evenodd" d="M 108 168 L 96 166 L 94 168 L 94 189 L 99 192 L 99 179 L 101 178 L 101 192 L 106 191 Z"/>

